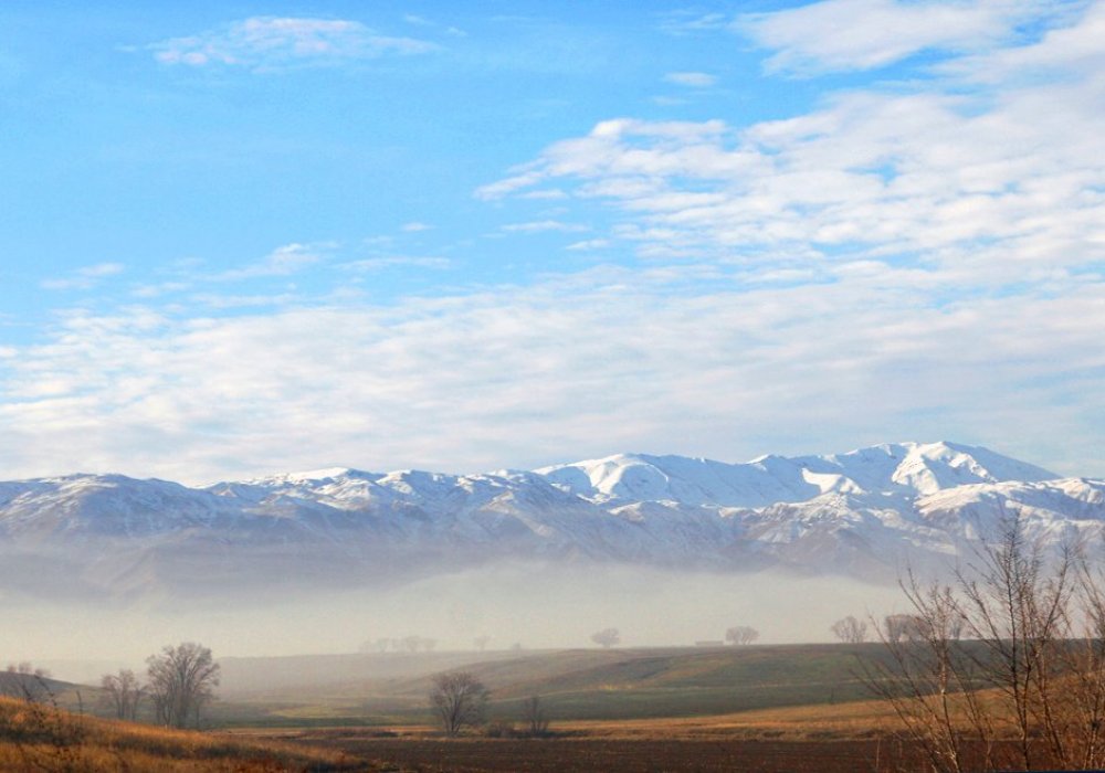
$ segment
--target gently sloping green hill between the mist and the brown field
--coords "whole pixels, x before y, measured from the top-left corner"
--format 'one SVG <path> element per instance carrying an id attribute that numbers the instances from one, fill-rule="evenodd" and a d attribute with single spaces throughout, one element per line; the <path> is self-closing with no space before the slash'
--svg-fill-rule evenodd
<path id="1" fill-rule="evenodd" d="M 365 678 L 362 667 L 360 676 L 346 680 L 227 695 L 213 718 L 232 724 L 424 722 L 431 676 L 455 668 L 472 671 L 491 689 L 492 718 L 520 716 L 522 702 L 533 695 L 556 720 L 698 717 L 863 700 L 871 696 L 857 676 L 860 658 L 881 657 L 878 645 L 572 649 L 482 660 L 438 656 L 421 665 L 407 661 L 390 677 Z M 276 660 L 274 668 L 281 665 Z"/>

